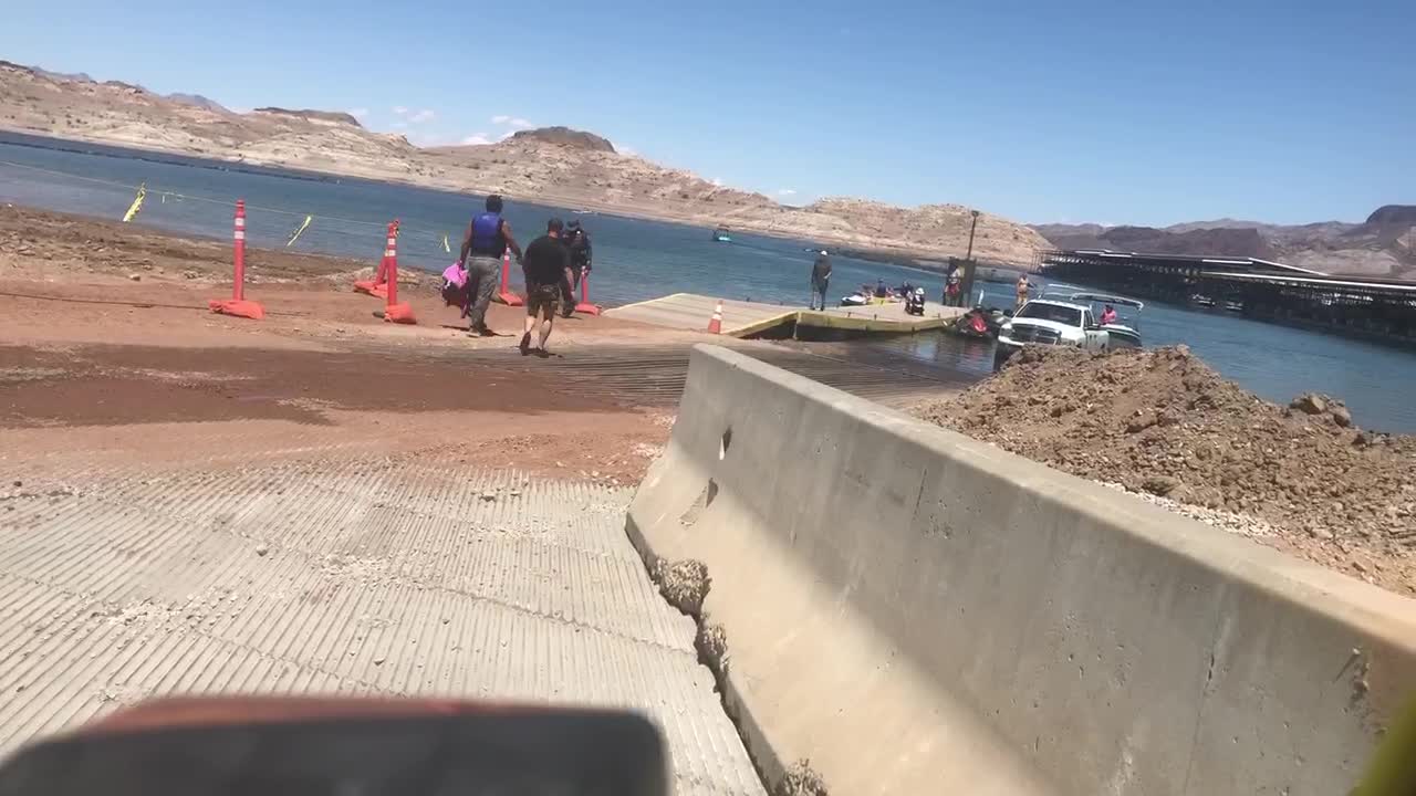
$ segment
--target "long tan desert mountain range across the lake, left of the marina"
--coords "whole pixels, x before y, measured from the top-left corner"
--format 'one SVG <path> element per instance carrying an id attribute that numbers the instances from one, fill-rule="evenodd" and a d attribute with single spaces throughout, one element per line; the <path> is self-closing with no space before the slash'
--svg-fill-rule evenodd
<path id="1" fill-rule="evenodd" d="M 960 256 L 970 210 L 901 208 L 862 200 L 787 207 L 680 169 L 615 152 L 566 127 L 525 130 L 487 146 L 421 149 L 364 129 L 347 113 L 266 108 L 232 113 L 130 84 L 95 82 L 0 61 L 0 129 L 268 166 L 585 207 L 704 227 L 800 238 L 901 258 Z M 991 214 L 978 217 L 974 255 L 1029 265 L 1048 242 Z"/>

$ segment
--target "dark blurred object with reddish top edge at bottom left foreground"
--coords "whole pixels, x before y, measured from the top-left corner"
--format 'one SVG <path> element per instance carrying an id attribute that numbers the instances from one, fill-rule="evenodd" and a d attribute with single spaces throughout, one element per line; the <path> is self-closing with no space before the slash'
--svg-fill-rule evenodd
<path id="1" fill-rule="evenodd" d="M 630 712 L 419 700 L 166 700 L 28 746 L 0 796 L 667 796 Z"/>

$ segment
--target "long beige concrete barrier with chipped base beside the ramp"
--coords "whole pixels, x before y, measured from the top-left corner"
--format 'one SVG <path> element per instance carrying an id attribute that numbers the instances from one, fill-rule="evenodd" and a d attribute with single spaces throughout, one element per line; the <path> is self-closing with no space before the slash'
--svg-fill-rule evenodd
<path id="1" fill-rule="evenodd" d="M 773 783 L 1331 796 L 1416 688 L 1416 601 L 716 347 L 629 533 Z"/>

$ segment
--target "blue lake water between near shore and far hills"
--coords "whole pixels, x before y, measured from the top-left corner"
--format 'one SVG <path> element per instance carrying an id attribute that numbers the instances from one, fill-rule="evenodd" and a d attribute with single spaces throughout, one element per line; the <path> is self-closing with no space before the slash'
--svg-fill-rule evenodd
<path id="1" fill-rule="evenodd" d="M 399 263 L 428 271 L 442 271 L 456 258 L 462 231 L 481 207 L 479 195 L 0 133 L 0 201 L 120 218 L 139 183 L 147 184 L 149 198 L 137 224 L 228 238 L 234 203 L 241 197 L 255 246 L 283 246 L 304 217 L 313 215 L 293 249 L 361 256 L 371 265 L 382 254 L 385 225 L 399 218 Z M 523 244 L 539 234 L 552 214 L 579 218 L 589 228 L 595 242 L 590 297 L 598 303 L 615 306 L 675 292 L 807 302 L 810 241 L 735 234 L 732 244 L 718 244 L 709 229 L 697 227 L 575 215 L 507 197 L 506 215 Z M 453 254 L 443 249 L 443 235 Z M 939 275 L 845 256 L 833 261 L 833 300 L 877 279 L 922 283 L 932 296 L 940 289 Z M 983 288 L 986 303 L 1011 305 L 1011 286 Z M 1189 346 L 1222 374 L 1272 401 L 1327 392 L 1345 399 L 1362 426 L 1416 432 L 1416 353 L 1165 305 L 1146 307 L 1141 331 L 1147 346 Z M 978 377 L 993 364 L 991 343 L 943 334 L 858 341 L 850 350 L 862 358 L 903 354 Z"/>

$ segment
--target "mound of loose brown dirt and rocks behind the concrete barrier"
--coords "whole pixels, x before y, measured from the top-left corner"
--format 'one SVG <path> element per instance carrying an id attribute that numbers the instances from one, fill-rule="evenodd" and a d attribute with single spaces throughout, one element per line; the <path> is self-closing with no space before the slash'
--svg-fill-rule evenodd
<path id="1" fill-rule="evenodd" d="M 1027 348 L 916 415 L 1012 453 L 1167 503 L 1257 520 L 1246 533 L 1416 593 L 1416 438 L 1364 432 L 1341 401 L 1276 406 L 1184 346 Z M 1216 523 L 1219 524 L 1219 523 Z"/>

